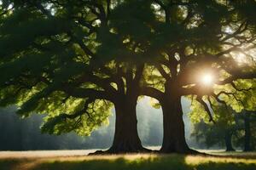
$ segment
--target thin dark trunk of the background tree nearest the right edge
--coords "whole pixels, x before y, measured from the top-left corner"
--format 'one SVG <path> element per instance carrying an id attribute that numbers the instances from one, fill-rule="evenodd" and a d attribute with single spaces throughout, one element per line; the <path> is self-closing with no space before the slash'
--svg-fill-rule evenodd
<path id="1" fill-rule="evenodd" d="M 251 151 L 251 122 L 250 122 L 250 113 L 244 113 L 244 151 Z"/>

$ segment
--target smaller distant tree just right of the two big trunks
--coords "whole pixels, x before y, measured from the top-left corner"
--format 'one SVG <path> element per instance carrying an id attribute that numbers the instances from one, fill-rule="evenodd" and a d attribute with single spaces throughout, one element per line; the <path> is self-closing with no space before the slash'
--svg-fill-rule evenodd
<path id="1" fill-rule="evenodd" d="M 193 107 L 196 106 L 193 105 Z M 207 148 L 218 144 L 218 146 L 225 146 L 226 151 L 234 151 L 232 139 L 237 136 L 241 128 L 241 122 L 237 119 L 238 114 L 234 113 L 231 108 L 226 109 L 224 105 L 219 105 L 215 111 L 215 124 L 205 122 L 199 116 L 200 113 L 195 110 L 191 111 L 189 116 L 194 122 L 191 137 L 194 137 L 201 144 L 206 144 Z"/>

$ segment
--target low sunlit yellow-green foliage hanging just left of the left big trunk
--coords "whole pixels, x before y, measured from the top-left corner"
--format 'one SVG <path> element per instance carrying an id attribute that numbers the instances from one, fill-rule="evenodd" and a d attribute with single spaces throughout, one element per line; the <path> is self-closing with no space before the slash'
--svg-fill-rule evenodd
<path id="1" fill-rule="evenodd" d="M 68 99 L 65 105 L 57 107 L 57 111 L 54 114 L 49 111 L 51 115 L 48 115 L 44 119 L 42 131 L 44 133 L 69 133 L 76 132 L 79 135 L 90 135 L 91 131 L 103 124 L 108 124 L 108 116 L 111 113 L 112 105 L 106 101 L 96 100 L 90 104 L 87 111 L 82 116 L 68 119 L 67 115 L 72 116 L 73 110 L 80 110 L 79 107 L 83 107 L 83 100 L 79 99 Z M 66 114 L 61 114 L 62 111 Z M 59 112 L 59 113 L 58 113 Z"/>

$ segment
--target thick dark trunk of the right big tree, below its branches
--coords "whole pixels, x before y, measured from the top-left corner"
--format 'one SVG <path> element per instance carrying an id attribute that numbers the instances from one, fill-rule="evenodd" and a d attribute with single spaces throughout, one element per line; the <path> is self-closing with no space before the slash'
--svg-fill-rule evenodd
<path id="1" fill-rule="evenodd" d="M 164 118 L 164 138 L 160 152 L 193 153 L 194 150 L 189 149 L 185 140 L 181 96 L 174 98 L 166 95 L 160 104 Z"/>

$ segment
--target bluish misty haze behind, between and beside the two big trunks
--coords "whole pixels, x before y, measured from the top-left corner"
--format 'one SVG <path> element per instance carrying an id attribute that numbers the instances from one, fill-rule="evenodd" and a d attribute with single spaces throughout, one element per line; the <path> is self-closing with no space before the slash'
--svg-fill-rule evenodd
<path id="1" fill-rule="evenodd" d="M 190 139 L 191 124 L 188 118 L 189 101 L 183 99 L 183 120 L 189 146 L 199 148 L 195 139 Z M 114 133 L 114 111 L 109 117 L 109 125 L 100 127 L 89 137 L 75 133 L 59 136 L 40 133 L 42 115 L 33 114 L 20 119 L 15 115 L 15 107 L 0 110 L 0 150 L 79 150 L 105 149 L 111 146 Z M 138 133 L 144 146 L 160 146 L 163 138 L 163 116 L 161 109 L 154 109 L 148 97 L 137 104 Z M 172 122 L 170 122 L 172 123 Z"/>

